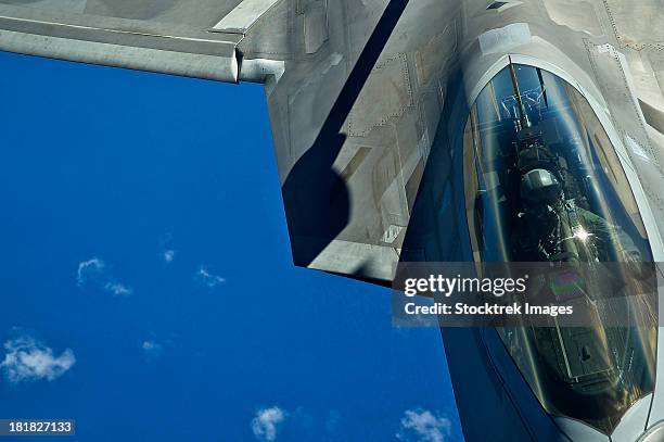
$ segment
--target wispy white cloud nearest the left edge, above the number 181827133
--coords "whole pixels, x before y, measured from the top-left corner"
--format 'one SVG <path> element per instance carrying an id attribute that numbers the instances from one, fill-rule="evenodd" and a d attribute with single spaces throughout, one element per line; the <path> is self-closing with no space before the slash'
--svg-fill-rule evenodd
<path id="1" fill-rule="evenodd" d="M 29 336 L 21 336 L 4 343 L 7 354 L 0 369 L 12 383 L 40 379 L 54 380 L 76 363 L 74 352 L 65 350 L 60 356 L 42 342 Z"/>

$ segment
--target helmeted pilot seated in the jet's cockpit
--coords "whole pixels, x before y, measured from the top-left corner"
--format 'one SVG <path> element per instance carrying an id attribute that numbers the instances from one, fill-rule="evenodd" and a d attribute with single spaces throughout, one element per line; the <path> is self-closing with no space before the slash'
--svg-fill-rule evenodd
<path id="1" fill-rule="evenodd" d="M 622 228 L 577 206 L 574 200 L 565 200 L 551 172 L 535 168 L 524 174 L 520 193 L 519 261 L 642 261 Z"/>

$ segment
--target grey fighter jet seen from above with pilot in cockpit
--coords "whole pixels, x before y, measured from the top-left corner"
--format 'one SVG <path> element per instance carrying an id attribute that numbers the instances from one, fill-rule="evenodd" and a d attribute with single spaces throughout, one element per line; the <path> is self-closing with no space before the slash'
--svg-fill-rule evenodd
<path id="1" fill-rule="evenodd" d="M 662 0 L 0 0 L 0 50 L 264 84 L 297 266 L 664 261 Z M 661 330 L 442 328 L 465 439 L 664 441 Z"/>

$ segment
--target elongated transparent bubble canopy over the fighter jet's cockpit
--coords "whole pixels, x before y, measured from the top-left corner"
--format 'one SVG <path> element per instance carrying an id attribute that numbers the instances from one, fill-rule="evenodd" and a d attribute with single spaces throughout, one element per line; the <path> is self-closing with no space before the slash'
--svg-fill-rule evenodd
<path id="1" fill-rule="evenodd" d="M 652 261 L 614 146 L 588 101 L 547 71 L 510 64 L 482 90 L 463 134 L 463 180 L 476 262 L 621 263 L 628 273 Z M 548 413 L 610 434 L 653 391 L 656 315 L 626 300 L 650 326 L 606 327 L 602 300 L 586 298 L 588 327 L 498 333 Z"/>

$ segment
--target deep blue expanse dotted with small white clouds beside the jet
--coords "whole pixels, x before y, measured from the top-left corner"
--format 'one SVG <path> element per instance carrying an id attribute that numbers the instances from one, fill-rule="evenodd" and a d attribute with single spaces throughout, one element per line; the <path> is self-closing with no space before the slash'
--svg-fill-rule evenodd
<path id="1" fill-rule="evenodd" d="M 0 53 L 0 418 L 458 441 L 436 329 L 291 262 L 263 88 Z"/>

